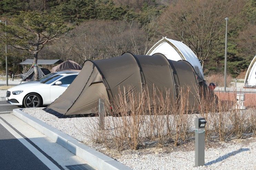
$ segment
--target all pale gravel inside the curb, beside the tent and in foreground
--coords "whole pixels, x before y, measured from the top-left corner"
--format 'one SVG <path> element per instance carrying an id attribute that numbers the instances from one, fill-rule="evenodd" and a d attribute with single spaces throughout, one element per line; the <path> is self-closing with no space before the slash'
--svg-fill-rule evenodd
<path id="1" fill-rule="evenodd" d="M 58 118 L 39 108 L 23 109 L 24 112 L 59 129 L 73 138 L 96 149 L 99 146 L 90 140 L 90 130 L 85 128 L 96 117 Z M 245 142 L 250 141 L 250 142 Z M 103 148 L 101 148 L 103 150 Z M 132 153 L 132 154 L 131 154 Z M 115 158 L 115 156 L 113 156 Z M 166 169 L 256 169 L 256 139 L 240 139 L 223 143 L 221 147 L 205 151 L 205 165 L 194 168 L 194 151 L 165 152 L 156 149 L 154 153 L 133 151 L 121 154 L 117 161 L 136 170 Z"/>

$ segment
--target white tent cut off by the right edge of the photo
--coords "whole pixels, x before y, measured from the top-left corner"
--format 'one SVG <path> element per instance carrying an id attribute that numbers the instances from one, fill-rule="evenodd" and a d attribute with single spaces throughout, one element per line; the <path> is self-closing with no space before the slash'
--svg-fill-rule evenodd
<path id="1" fill-rule="evenodd" d="M 250 63 L 244 79 L 244 87 L 256 87 L 256 56 Z"/>

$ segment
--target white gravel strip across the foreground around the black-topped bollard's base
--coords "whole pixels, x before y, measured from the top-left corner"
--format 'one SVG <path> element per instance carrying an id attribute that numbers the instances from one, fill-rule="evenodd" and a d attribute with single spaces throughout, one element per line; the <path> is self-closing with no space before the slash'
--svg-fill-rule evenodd
<path id="1" fill-rule="evenodd" d="M 256 142 L 247 146 L 241 144 L 225 144 L 225 148 L 205 151 L 205 165 L 194 168 L 195 151 L 179 151 L 156 154 L 122 155 L 117 161 L 134 170 L 149 169 L 223 169 L 223 170 L 255 170 Z"/>

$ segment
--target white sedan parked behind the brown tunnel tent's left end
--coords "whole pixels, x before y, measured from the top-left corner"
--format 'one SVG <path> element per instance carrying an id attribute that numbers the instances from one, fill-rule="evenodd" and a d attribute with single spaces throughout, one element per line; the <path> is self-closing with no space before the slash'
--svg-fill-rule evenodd
<path id="1" fill-rule="evenodd" d="M 6 101 L 24 107 L 42 107 L 54 102 L 73 82 L 79 72 L 59 71 L 38 81 L 22 83 L 7 90 Z"/>

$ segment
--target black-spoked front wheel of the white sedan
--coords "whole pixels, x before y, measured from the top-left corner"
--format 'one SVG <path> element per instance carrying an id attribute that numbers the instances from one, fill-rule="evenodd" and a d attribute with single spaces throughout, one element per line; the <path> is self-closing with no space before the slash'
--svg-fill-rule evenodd
<path id="1" fill-rule="evenodd" d="M 25 107 L 41 107 L 43 104 L 42 98 L 37 93 L 30 93 L 25 96 L 23 105 Z"/>

